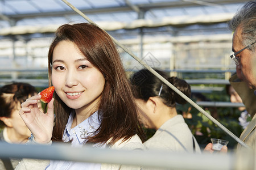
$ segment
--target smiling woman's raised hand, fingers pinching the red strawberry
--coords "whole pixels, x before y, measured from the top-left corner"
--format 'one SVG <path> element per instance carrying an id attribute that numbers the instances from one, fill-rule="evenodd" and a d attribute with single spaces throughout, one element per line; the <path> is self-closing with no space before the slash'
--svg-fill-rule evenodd
<path id="1" fill-rule="evenodd" d="M 49 143 L 52 138 L 53 129 L 53 101 L 52 99 L 47 105 L 47 113 L 43 113 L 38 108 L 38 100 L 41 95 L 35 95 L 28 98 L 21 104 L 19 111 L 27 128 L 34 135 L 35 141 L 38 143 Z"/>

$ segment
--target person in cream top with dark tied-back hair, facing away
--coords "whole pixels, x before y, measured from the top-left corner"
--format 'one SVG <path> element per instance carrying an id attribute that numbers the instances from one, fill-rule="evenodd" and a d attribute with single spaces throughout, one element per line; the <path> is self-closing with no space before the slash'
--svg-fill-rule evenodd
<path id="1" fill-rule="evenodd" d="M 191 95 L 191 88 L 185 80 L 169 77 L 160 70 L 156 71 L 185 95 Z M 176 111 L 176 103 L 185 104 L 187 101 L 148 70 L 138 71 L 130 80 L 136 102 L 141 108 L 142 123 L 146 128 L 156 130 L 144 145 L 148 149 L 200 152 L 200 147 L 183 116 Z"/>

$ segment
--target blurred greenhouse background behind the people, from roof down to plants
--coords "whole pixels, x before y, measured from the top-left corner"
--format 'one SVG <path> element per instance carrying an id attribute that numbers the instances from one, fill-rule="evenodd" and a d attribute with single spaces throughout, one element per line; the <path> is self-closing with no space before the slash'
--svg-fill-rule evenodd
<path id="1" fill-rule="evenodd" d="M 48 87 L 48 50 L 56 29 L 67 23 L 93 22 L 138 58 L 116 44 L 127 76 L 143 69 L 143 61 L 186 80 L 191 85 L 191 99 L 239 137 L 243 129 L 238 107 L 243 104 L 230 102 L 225 89 L 236 73 L 230 59 L 233 32 L 227 23 L 244 3 L 0 0 L 0 87 L 11 82 L 30 83 L 39 92 Z M 236 148 L 235 139 L 189 103 L 177 105 L 177 111 L 183 114 L 201 148 L 210 138 L 226 139 L 230 151 Z M 147 129 L 146 133 L 151 137 L 155 131 Z"/>

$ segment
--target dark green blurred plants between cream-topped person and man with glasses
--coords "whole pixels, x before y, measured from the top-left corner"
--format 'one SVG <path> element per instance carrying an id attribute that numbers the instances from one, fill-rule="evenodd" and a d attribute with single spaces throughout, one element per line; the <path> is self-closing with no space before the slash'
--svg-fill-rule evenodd
<path id="1" fill-rule="evenodd" d="M 224 91 L 213 92 L 206 95 L 209 100 L 212 101 L 225 101 L 229 100 Z M 192 99 L 196 102 L 197 99 Z M 238 117 L 240 112 L 237 108 L 203 108 L 208 114 L 216 118 L 222 125 L 229 129 L 234 135 L 240 137 L 242 133 L 242 127 L 238 124 Z M 179 113 L 189 112 L 192 114 L 192 118 L 185 118 L 185 122 L 188 124 L 193 135 L 195 135 L 197 142 L 201 148 L 204 148 L 210 143 L 210 138 L 220 138 L 229 141 L 228 148 L 232 150 L 236 147 L 237 141 L 230 137 L 224 130 L 213 124 L 203 113 L 200 113 L 191 104 L 178 105 L 177 111 Z"/>

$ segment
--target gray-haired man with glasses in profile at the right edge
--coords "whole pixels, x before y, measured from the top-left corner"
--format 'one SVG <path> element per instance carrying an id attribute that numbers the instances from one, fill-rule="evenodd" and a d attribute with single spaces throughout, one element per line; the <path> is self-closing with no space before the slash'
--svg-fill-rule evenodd
<path id="1" fill-rule="evenodd" d="M 234 85 L 236 77 L 230 79 L 230 83 L 241 95 L 246 109 L 249 109 L 252 120 L 242 132 L 240 139 L 256 151 L 256 1 L 250 1 L 237 12 L 230 20 L 229 28 L 234 31 L 232 50 L 234 54 L 230 56 L 237 65 L 237 76 L 243 83 Z M 254 63 L 254 64 L 253 64 Z M 246 88 L 244 84 L 247 84 Z M 242 146 L 238 144 L 237 150 Z"/>

